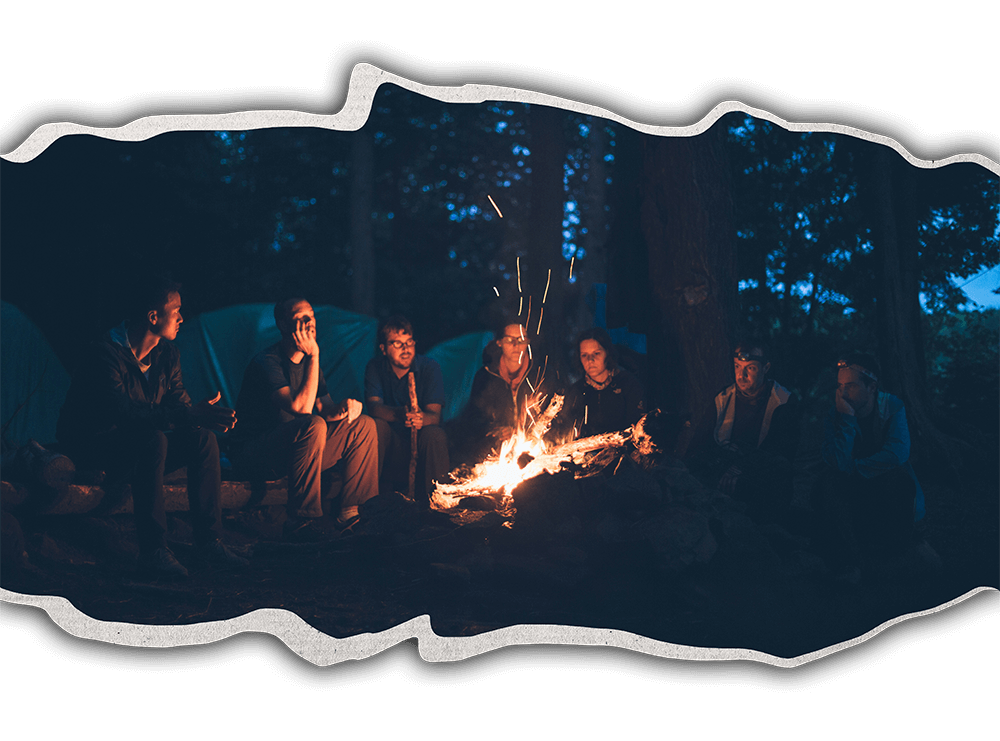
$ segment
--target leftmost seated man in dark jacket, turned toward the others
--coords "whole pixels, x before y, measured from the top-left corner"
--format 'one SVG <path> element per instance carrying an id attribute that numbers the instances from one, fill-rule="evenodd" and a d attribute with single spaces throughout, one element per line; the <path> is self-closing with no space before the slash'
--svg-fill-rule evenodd
<path id="1" fill-rule="evenodd" d="M 180 353 L 170 340 L 181 323 L 180 285 L 145 278 L 134 286 L 128 318 L 79 359 L 57 437 L 84 468 L 106 473 L 105 488 L 131 483 L 139 565 L 156 575 L 187 576 L 166 542 L 165 473 L 187 466 L 196 548 L 210 562 L 247 565 L 219 539 L 222 486 L 215 432 L 236 424 L 221 394 L 198 404 L 184 388 Z"/>

